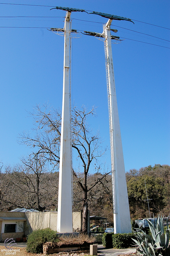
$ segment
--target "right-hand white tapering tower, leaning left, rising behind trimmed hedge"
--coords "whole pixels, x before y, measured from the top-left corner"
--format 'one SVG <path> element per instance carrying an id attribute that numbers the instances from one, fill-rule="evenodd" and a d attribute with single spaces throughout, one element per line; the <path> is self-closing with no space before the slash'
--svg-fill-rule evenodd
<path id="1" fill-rule="evenodd" d="M 105 37 L 104 46 L 106 57 L 106 79 L 109 106 L 114 233 L 131 233 L 132 231 L 129 201 L 126 184 L 126 175 L 124 169 L 123 149 L 120 134 L 120 124 L 116 99 L 115 78 L 111 48 L 111 22 L 112 19 L 109 19 L 107 24 L 104 25 L 103 35 Z"/>

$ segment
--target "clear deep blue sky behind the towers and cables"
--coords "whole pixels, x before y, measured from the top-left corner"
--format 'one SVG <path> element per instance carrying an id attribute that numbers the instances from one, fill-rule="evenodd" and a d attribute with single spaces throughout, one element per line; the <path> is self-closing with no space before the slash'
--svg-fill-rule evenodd
<path id="1" fill-rule="evenodd" d="M 94 10 L 170 28 L 170 3 L 164 1 L 20 1 L 3 3 L 69 6 Z M 7 18 L 7 16 L 64 17 L 50 7 L 2 5 L 1 27 L 63 27 L 63 18 Z M 5 16 L 5 17 L 2 17 Z M 72 28 L 102 32 L 107 19 L 72 13 Z M 120 37 L 170 47 L 169 31 L 140 22 L 113 21 Z M 119 28 L 119 27 L 122 28 Z M 157 39 L 144 34 L 163 38 Z M 128 34 L 130 33 L 130 34 Z M 100 130 L 109 145 L 105 55 L 103 42 L 82 35 L 73 39 L 72 99 L 81 107 L 98 106 L 91 126 Z M 23 130 L 33 127 L 26 111 L 49 102 L 62 106 L 63 37 L 46 28 L 0 28 L 0 159 L 15 164 L 29 148 L 17 143 Z M 169 157 L 169 52 L 170 49 L 124 40 L 112 45 L 118 111 L 125 169 L 170 164 Z M 107 152 L 109 163 L 110 153 Z"/>

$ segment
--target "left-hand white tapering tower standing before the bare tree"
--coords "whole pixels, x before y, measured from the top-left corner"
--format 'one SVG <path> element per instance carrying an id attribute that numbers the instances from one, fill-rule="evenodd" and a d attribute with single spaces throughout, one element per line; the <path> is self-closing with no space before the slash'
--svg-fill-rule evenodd
<path id="1" fill-rule="evenodd" d="M 70 15 L 66 12 L 64 25 L 64 70 L 63 70 L 63 103 L 61 121 L 60 170 L 57 231 L 59 233 L 73 232 L 72 223 L 72 151 L 71 151 L 71 40 Z"/>

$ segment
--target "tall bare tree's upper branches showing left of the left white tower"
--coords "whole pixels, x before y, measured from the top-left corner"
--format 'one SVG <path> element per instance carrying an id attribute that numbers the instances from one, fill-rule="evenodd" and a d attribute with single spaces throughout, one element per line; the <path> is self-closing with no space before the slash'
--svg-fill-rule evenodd
<path id="1" fill-rule="evenodd" d="M 36 105 L 33 112 L 28 113 L 33 118 L 34 127 L 31 133 L 24 131 L 19 134 L 18 143 L 35 148 L 54 170 L 59 168 L 60 162 L 61 111 L 47 104 L 42 109 Z"/>

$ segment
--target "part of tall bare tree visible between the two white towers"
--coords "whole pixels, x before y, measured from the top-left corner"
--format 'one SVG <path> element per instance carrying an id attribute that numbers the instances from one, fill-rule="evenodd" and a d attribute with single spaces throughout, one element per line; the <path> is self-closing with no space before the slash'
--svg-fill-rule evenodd
<path id="1" fill-rule="evenodd" d="M 93 107 L 90 111 L 82 106 L 81 110 L 77 107 L 73 108 L 72 115 L 72 147 L 78 153 L 77 158 L 80 159 L 82 163 L 82 177 L 79 178 L 74 172 L 75 183 L 78 184 L 82 191 L 82 197 L 79 200 L 82 201 L 83 208 L 83 225 L 82 229 L 84 233 L 87 233 L 87 220 L 88 220 L 88 201 L 90 198 L 88 196 L 88 192 L 91 191 L 97 184 L 102 184 L 103 179 L 110 173 L 105 173 L 104 175 L 98 175 L 103 168 L 103 164 L 99 158 L 103 156 L 107 150 L 107 148 L 103 148 L 103 141 L 99 137 L 99 131 L 94 134 L 93 129 L 90 128 L 87 118 L 89 115 L 96 116 L 95 108 Z M 92 165 L 93 164 L 93 165 Z M 96 171 L 95 179 L 89 186 L 87 186 L 87 175 L 91 170 Z M 79 168 L 79 172 L 81 168 Z"/>

